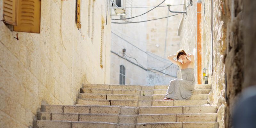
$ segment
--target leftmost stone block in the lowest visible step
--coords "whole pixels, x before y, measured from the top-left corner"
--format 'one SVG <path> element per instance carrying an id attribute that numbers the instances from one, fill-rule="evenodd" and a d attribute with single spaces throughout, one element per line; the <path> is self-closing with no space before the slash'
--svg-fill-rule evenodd
<path id="1" fill-rule="evenodd" d="M 36 127 L 38 128 L 71 128 L 71 122 L 37 120 Z"/>

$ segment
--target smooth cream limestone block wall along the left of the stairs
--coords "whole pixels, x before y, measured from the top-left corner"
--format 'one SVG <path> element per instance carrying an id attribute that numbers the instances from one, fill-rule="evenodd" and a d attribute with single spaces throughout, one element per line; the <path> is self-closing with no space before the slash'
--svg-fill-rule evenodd
<path id="1" fill-rule="evenodd" d="M 87 33 L 88 1 L 81 0 L 80 30 L 76 27 L 75 0 L 42 0 L 40 34 L 12 32 L 0 22 L 1 127 L 28 128 L 42 102 L 73 105 L 82 83 L 109 84 L 110 16 L 104 25 L 101 69 L 105 3 L 91 0 L 95 2 L 93 26 L 89 25 L 94 28 L 92 39 Z M 1 0 L 1 18 L 2 7 Z M 19 40 L 14 38 L 16 34 Z"/>

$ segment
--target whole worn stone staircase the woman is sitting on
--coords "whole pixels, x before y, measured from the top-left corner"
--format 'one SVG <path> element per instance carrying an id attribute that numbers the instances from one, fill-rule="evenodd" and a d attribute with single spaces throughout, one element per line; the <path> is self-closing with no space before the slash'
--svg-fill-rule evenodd
<path id="1" fill-rule="evenodd" d="M 76 105 L 44 105 L 35 128 L 217 128 L 207 104 L 211 85 L 195 86 L 189 100 L 162 100 L 168 85 L 85 85 Z"/>

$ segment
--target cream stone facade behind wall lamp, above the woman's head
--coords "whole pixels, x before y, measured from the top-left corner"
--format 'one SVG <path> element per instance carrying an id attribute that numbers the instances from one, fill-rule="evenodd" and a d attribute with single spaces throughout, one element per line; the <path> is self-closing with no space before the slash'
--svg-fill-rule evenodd
<path id="1" fill-rule="evenodd" d="M 156 6 L 163 2 L 162 0 L 148 0 L 148 6 Z M 147 20 L 162 18 L 175 15 L 169 12 L 166 4 L 171 4 L 172 11 L 184 11 L 183 0 L 166 0 L 160 7 L 155 8 L 147 14 Z M 152 8 L 148 8 L 152 9 Z M 152 52 L 163 58 L 169 55 L 176 54 L 180 49 L 180 36 L 178 29 L 182 14 L 175 15 L 169 18 L 153 20 L 147 22 L 147 51 Z"/>

